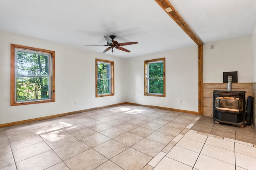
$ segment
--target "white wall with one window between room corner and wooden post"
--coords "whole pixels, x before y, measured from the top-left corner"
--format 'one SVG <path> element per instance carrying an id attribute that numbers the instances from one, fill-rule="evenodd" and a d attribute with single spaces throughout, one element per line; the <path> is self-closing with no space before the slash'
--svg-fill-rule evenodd
<path id="1" fill-rule="evenodd" d="M 144 61 L 165 57 L 166 97 L 144 96 Z M 198 47 L 133 57 L 126 61 L 127 102 L 198 111 Z M 179 101 L 182 100 L 182 104 Z"/>

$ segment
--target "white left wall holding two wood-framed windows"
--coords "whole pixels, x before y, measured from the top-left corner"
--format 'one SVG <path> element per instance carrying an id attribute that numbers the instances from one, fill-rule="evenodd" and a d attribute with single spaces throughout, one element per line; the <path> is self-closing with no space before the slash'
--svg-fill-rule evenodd
<path id="1" fill-rule="evenodd" d="M 0 39 L 0 124 L 126 102 L 125 59 L 5 31 Z M 11 43 L 55 51 L 56 102 L 10 106 Z M 115 62 L 115 96 L 95 97 L 96 58 Z"/>

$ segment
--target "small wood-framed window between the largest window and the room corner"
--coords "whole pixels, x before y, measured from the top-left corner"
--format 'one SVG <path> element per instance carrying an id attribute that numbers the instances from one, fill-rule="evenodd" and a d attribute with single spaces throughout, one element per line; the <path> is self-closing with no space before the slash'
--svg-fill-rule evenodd
<path id="1" fill-rule="evenodd" d="M 96 97 L 114 96 L 114 62 L 96 59 Z"/>

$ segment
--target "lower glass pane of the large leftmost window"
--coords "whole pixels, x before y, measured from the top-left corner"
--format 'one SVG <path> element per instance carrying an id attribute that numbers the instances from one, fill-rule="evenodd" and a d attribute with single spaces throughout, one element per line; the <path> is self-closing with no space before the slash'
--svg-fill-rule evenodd
<path id="1" fill-rule="evenodd" d="M 49 78 L 17 77 L 16 101 L 49 99 Z"/>

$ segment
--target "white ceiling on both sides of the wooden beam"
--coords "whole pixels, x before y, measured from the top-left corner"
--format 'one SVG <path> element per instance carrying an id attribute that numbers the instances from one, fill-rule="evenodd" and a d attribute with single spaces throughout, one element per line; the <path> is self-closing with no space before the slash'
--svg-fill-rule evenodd
<path id="1" fill-rule="evenodd" d="M 203 43 L 250 35 L 256 23 L 256 0 L 170 3 Z M 0 0 L 0 29 L 98 53 L 106 47 L 84 45 L 138 41 L 115 50 L 123 58 L 196 45 L 154 0 Z"/>

